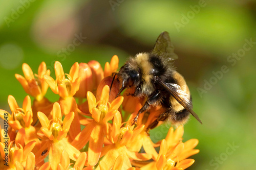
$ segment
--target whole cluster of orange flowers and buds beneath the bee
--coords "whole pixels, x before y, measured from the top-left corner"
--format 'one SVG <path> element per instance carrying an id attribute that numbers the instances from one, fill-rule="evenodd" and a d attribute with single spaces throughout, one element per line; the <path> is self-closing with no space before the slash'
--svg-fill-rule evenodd
<path id="1" fill-rule="evenodd" d="M 9 124 L 8 134 L 0 130 L 0 169 L 160 170 L 185 169 L 194 163 L 187 158 L 199 152 L 194 149 L 198 140 L 183 143 L 182 126 L 175 131 L 169 128 L 167 136 L 156 143 L 151 140 L 147 126 L 159 114 L 158 108 L 142 113 L 137 124 L 132 124 L 143 99 L 127 92 L 115 98 L 117 80 L 110 92 L 117 56 L 106 62 L 104 70 L 97 61 L 75 63 L 69 74 L 58 61 L 54 68 L 56 79 L 45 62 L 37 74 L 24 63 L 24 77 L 15 75 L 29 95 L 22 106 L 9 95 L 11 112 L 0 110 Z M 45 97 L 49 87 L 58 101 Z"/>

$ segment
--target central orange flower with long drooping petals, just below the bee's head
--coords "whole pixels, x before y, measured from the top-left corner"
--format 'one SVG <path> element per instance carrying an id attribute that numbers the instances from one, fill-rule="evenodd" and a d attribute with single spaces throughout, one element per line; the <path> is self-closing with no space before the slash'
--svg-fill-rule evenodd
<path id="1" fill-rule="evenodd" d="M 94 166 L 100 157 L 104 136 L 108 134 L 109 120 L 113 116 L 121 117 L 117 109 L 120 107 L 123 97 L 116 98 L 112 103 L 109 102 L 109 86 L 104 86 L 97 102 L 92 92 L 87 92 L 89 111 L 93 121 L 89 123 L 71 143 L 77 149 L 81 149 L 89 141 L 88 163 Z"/>

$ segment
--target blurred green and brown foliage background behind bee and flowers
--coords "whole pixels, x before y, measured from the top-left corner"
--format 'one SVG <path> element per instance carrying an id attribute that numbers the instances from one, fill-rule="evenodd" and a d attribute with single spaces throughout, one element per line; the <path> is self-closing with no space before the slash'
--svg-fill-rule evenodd
<path id="1" fill-rule="evenodd" d="M 198 138 L 200 149 L 189 169 L 254 169 L 256 46 L 233 66 L 227 58 L 243 48 L 245 39 L 256 41 L 256 2 L 205 1 L 180 29 L 175 22 L 182 23 L 200 1 L 114 1 L 115 6 L 110 2 L 1 1 L 0 107 L 9 110 L 9 94 L 19 105 L 27 95 L 14 77 L 23 75 L 24 62 L 37 72 L 45 61 L 51 76 L 56 60 L 66 72 L 76 61 L 97 60 L 103 67 L 113 55 L 118 55 L 121 66 L 129 55 L 150 51 L 158 35 L 168 31 L 179 56 L 175 65 L 187 80 L 194 110 L 203 122 L 202 126 L 191 117 L 185 125 L 184 139 Z M 87 38 L 69 54 L 63 53 L 80 34 Z M 220 71 L 223 65 L 229 71 L 200 95 L 198 88 L 204 88 L 205 80 L 214 76 L 212 71 Z M 46 96 L 57 100 L 50 89 Z M 164 135 L 166 129 L 158 127 L 151 136 L 159 132 Z M 239 148 L 225 157 L 228 143 Z"/>

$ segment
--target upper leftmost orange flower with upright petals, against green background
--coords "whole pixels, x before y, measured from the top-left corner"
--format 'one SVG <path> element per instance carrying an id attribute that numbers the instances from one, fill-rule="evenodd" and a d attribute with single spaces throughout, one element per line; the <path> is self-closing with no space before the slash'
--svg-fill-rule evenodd
<path id="1" fill-rule="evenodd" d="M 22 84 L 26 93 L 32 95 L 37 101 L 41 101 L 48 89 L 48 84 L 43 79 L 43 76 L 50 75 L 50 70 L 47 70 L 46 63 L 41 62 L 38 68 L 38 75 L 35 74 L 36 78 L 34 77 L 33 71 L 28 64 L 24 63 L 22 65 L 22 70 L 25 78 L 15 74 L 16 79 L 20 84 Z"/>

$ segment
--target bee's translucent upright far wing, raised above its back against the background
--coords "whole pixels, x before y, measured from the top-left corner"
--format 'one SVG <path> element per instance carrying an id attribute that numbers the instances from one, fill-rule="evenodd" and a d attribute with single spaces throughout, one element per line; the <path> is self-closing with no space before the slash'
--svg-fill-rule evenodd
<path id="1" fill-rule="evenodd" d="M 174 53 L 174 45 L 170 41 L 169 33 L 166 31 L 162 32 L 157 38 L 152 53 L 158 56 L 167 57 L 170 60 L 178 59 L 178 56 Z"/>

